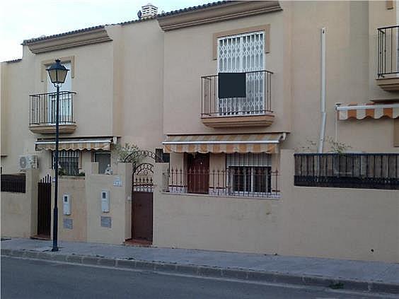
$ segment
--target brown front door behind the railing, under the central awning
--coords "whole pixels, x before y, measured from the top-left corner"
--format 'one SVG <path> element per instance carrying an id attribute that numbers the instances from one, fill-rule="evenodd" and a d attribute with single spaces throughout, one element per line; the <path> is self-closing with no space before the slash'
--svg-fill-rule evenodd
<path id="1" fill-rule="evenodd" d="M 187 192 L 208 194 L 209 153 L 195 153 L 187 156 Z"/>

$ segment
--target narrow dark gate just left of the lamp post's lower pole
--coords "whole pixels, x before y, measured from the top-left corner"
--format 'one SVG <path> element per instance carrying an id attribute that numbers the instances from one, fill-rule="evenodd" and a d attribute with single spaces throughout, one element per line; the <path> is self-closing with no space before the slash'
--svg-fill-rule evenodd
<path id="1" fill-rule="evenodd" d="M 37 183 L 37 235 L 50 238 L 51 177 L 47 175 Z"/>

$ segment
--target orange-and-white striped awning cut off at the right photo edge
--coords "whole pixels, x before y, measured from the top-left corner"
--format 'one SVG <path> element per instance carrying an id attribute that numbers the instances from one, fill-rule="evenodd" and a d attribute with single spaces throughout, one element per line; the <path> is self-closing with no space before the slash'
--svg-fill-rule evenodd
<path id="1" fill-rule="evenodd" d="M 364 119 L 366 117 L 378 119 L 381 117 L 398 118 L 399 103 L 376 104 L 369 102 L 366 104 L 348 104 L 337 107 L 338 119 L 346 120 L 350 118 Z"/>

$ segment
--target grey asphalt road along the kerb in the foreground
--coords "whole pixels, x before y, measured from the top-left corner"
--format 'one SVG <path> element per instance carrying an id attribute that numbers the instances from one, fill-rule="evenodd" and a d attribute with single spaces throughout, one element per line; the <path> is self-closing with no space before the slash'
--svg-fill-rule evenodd
<path id="1" fill-rule="evenodd" d="M 248 283 L 1 257 L 6 298 L 385 298 L 324 288 Z"/>

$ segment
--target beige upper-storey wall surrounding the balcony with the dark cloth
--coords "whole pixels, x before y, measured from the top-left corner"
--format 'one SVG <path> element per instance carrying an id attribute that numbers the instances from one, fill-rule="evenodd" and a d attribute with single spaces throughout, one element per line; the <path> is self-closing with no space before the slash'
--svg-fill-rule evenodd
<path id="1" fill-rule="evenodd" d="M 200 119 L 201 76 L 217 73 L 213 59 L 213 35 L 226 30 L 270 24 L 270 53 L 265 54 L 266 69 L 273 71 L 272 109 L 277 117 L 268 128 L 205 127 Z M 289 48 L 284 41 L 287 25 L 284 13 L 268 13 L 219 23 L 198 25 L 165 33 L 163 76 L 163 131 L 165 134 L 210 134 L 232 131 L 287 131 L 289 105 L 284 86 L 288 73 L 284 73 L 284 59 Z"/>

